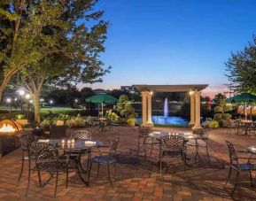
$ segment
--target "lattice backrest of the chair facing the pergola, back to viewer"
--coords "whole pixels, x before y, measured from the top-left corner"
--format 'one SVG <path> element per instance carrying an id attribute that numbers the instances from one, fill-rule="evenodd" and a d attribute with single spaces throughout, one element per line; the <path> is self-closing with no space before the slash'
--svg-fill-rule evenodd
<path id="1" fill-rule="evenodd" d="M 162 150 L 181 151 L 184 147 L 184 138 L 179 135 L 168 135 L 161 138 Z"/>

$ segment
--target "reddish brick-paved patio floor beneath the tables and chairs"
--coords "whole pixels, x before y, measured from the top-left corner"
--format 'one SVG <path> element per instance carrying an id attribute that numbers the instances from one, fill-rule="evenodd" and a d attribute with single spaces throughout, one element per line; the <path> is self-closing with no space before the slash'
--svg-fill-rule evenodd
<path id="1" fill-rule="evenodd" d="M 172 131 L 185 131 L 189 128 L 156 128 Z M 70 131 L 69 131 L 70 132 Z M 247 173 L 240 175 L 233 197 L 230 197 L 234 183 L 234 174 L 226 188 L 223 185 L 228 174 L 228 152 L 225 140 L 234 143 L 237 150 L 256 144 L 256 138 L 245 135 L 226 135 L 226 129 L 216 129 L 210 132 L 209 152 L 211 165 L 206 163 L 205 151 L 201 151 L 204 163 L 194 164 L 185 172 L 180 158 L 167 159 L 170 164 L 167 172 L 159 174 L 158 148 L 155 148 L 151 158 L 144 160 L 144 153 L 136 156 L 136 128 L 116 128 L 112 132 L 93 134 L 93 139 L 105 144 L 111 142 L 116 135 L 120 136 L 117 172 L 112 168 L 111 187 L 106 177 L 106 168 L 102 166 L 97 178 L 97 166 L 92 166 L 90 186 L 85 187 L 76 174 L 70 174 L 69 187 L 65 186 L 65 174 L 60 175 L 57 197 L 54 198 L 55 180 L 43 188 L 38 187 L 37 174 L 32 175 L 32 184 L 28 196 L 24 197 L 27 187 L 27 172 L 17 183 L 20 168 L 21 151 L 0 158 L 0 200 L 255 200 L 256 187 L 250 186 Z M 195 151 L 189 150 L 189 157 Z M 27 166 L 26 166 L 27 167 Z M 25 169 L 26 169 L 25 167 Z M 46 175 L 43 177 L 45 179 Z M 253 175 L 255 180 L 255 175 Z M 256 182 L 256 181 L 255 181 Z"/>

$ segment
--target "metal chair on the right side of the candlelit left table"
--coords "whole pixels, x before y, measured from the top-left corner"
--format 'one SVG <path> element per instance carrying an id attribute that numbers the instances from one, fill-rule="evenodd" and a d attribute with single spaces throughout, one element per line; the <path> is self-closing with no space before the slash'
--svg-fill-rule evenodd
<path id="1" fill-rule="evenodd" d="M 116 160 L 117 160 L 117 147 L 118 143 L 120 141 L 119 137 L 116 137 L 114 140 L 112 140 L 112 143 L 110 146 L 102 146 L 102 147 L 109 147 L 109 150 L 104 152 L 100 151 L 100 148 L 98 149 L 99 155 L 95 156 L 93 158 L 90 158 L 90 166 L 89 166 L 89 176 L 90 176 L 90 170 L 91 166 L 93 163 L 97 163 L 97 176 L 99 172 L 99 167 L 101 165 L 106 165 L 107 166 L 107 174 L 108 174 L 108 179 L 109 182 L 112 185 L 112 180 L 110 176 L 110 165 L 113 165 L 116 171 Z"/>

